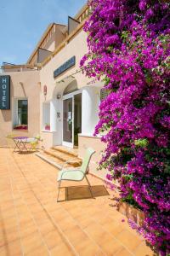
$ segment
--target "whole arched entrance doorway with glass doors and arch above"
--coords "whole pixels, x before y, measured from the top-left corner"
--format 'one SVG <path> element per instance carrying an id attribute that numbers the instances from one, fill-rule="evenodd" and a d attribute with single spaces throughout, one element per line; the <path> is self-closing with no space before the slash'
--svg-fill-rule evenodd
<path id="1" fill-rule="evenodd" d="M 63 145 L 78 146 L 78 133 L 82 132 L 82 90 L 77 81 L 68 84 L 63 92 Z"/>

